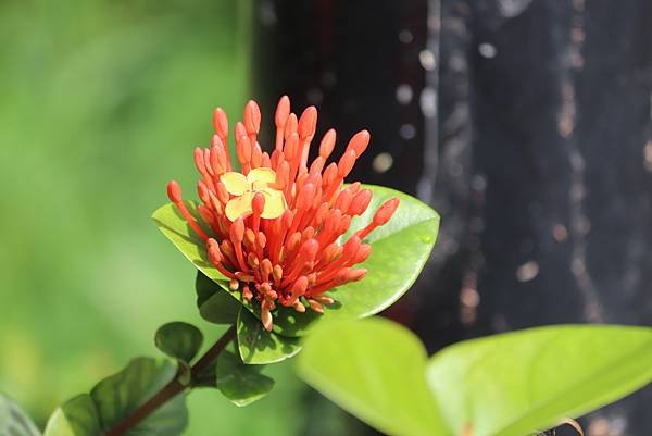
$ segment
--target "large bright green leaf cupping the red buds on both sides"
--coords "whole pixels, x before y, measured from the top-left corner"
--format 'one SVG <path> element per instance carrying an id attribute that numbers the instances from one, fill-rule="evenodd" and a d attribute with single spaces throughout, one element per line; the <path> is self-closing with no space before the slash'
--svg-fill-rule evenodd
<path id="1" fill-rule="evenodd" d="M 361 282 L 333 289 L 329 295 L 337 302 L 324 315 L 311 310 L 298 313 L 292 309 L 279 308 L 274 314 L 274 332 L 284 336 L 302 336 L 319 319 L 356 319 L 378 313 L 398 300 L 418 276 L 435 245 L 439 216 L 432 209 L 403 192 L 371 185 L 365 188 L 372 189 L 374 197 L 367 212 L 353 220 L 351 233 L 368 224 L 384 201 L 392 197 L 401 200 L 392 220 L 368 237 L 367 241 L 373 246 L 372 254 L 361 264 L 367 269 L 367 276 Z M 190 213 L 197 216 L 195 203 L 186 204 Z M 260 317 L 259 304 L 242 301 L 240 292 L 230 290 L 226 277 L 210 264 L 203 241 L 195 235 L 173 204 L 156 210 L 152 219 L 203 274 Z"/>

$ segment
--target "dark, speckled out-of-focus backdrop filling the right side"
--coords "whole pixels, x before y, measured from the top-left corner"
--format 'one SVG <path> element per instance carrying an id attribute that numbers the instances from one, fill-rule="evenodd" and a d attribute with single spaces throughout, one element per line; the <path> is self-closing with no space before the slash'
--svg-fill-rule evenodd
<path id="1" fill-rule="evenodd" d="M 261 0 L 254 14 L 263 107 L 317 105 L 342 148 L 368 128 L 354 178 L 441 214 L 425 273 L 387 313 L 431 352 L 535 325 L 651 324 L 652 2 Z M 585 429 L 652 434 L 651 399 Z"/>

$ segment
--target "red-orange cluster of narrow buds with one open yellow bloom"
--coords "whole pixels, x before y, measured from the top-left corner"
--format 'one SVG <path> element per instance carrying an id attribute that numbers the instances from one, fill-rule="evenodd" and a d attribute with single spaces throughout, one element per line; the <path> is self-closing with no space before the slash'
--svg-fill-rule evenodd
<path id="1" fill-rule="evenodd" d="M 261 113 L 250 101 L 244 121 L 235 128 L 241 172 L 234 171 L 227 144 L 228 121 L 222 109 L 213 115 L 215 135 L 208 149 L 195 150 L 201 175 L 198 212 L 211 228 L 208 235 L 189 213 L 176 182 L 167 195 L 188 224 L 205 241 L 211 263 L 239 289 L 247 301 L 258 301 L 261 320 L 272 329 L 277 304 L 298 312 L 323 312 L 334 302 L 325 291 L 362 279 L 355 267 L 371 253 L 364 238 L 387 223 L 399 199 L 385 202 L 373 220 L 343 240 L 351 221 L 364 213 L 372 191 L 360 183 L 346 186 L 355 160 L 367 148 L 369 134 L 359 132 L 340 159 L 327 164 L 336 142 L 330 129 L 319 144 L 318 157 L 308 162 L 315 135 L 317 110 L 310 107 L 298 119 L 283 97 L 276 110 L 276 141 L 272 153 L 258 142 Z"/>

